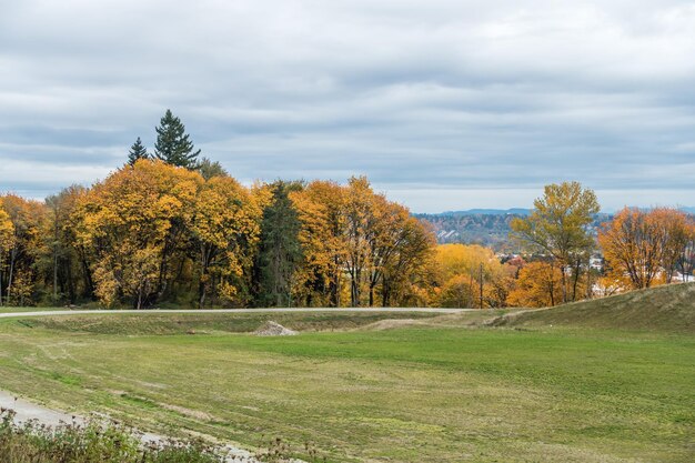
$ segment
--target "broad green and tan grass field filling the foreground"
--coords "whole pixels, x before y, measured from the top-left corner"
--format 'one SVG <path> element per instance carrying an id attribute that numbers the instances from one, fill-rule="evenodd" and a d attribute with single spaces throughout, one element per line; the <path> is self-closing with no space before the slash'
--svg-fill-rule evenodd
<path id="1" fill-rule="evenodd" d="M 0 389 L 170 434 L 282 437 L 305 459 L 310 443 L 340 462 L 693 460 L 688 333 L 427 315 L 3 320 Z M 240 333 L 268 319 L 310 332 Z"/>

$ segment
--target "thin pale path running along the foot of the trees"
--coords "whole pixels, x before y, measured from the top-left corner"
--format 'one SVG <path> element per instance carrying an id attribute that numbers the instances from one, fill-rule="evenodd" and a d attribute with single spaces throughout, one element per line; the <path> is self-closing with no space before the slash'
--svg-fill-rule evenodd
<path id="1" fill-rule="evenodd" d="M 89 315 L 103 313 L 292 313 L 292 312 L 391 312 L 391 313 L 461 313 L 474 312 L 479 309 L 423 309 L 423 308 L 384 308 L 384 309 L 149 309 L 149 310 L 49 310 L 38 312 L 6 312 L 0 313 L 0 319 L 10 319 L 14 316 L 54 316 L 54 315 Z"/>

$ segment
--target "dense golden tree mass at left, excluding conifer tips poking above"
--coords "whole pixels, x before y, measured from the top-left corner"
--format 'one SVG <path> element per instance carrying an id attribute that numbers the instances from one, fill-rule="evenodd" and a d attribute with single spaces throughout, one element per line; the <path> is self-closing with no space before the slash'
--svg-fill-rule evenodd
<path id="1" fill-rule="evenodd" d="M 2 197 L 0 300 L 133 308 L 429 303 L 420 288 L 435 242 L 407 209 L 365 178 L 281 183 L 246 188 L 224 173 L 205 180 L 141 159 L 46 203 Z"/>

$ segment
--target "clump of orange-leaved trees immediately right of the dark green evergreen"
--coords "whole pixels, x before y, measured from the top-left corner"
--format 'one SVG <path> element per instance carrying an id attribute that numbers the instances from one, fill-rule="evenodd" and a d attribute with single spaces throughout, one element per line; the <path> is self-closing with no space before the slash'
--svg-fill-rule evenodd
<path id="1" fill-rule="evenodd" d="M 308 305 L 386 306 L 426 302 L 434 235 L 404 207 L 375 193 L 366 178 L 348 185 L 311 182 L 291 194 L 304 251 L 295 291 Z"/>

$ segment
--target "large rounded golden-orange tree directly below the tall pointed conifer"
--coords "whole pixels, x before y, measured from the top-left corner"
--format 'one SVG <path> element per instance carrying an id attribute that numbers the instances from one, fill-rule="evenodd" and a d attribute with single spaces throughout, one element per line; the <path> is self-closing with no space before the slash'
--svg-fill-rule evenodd
<path id="1" fill-rule="evenodd" d="M 173 283 L 202 183 L 195 172 L 140 160 L 80 200 L 77 239 L 94 254 L 95 292 L 107 305 L 124 295 L 140 309 Z"/>

